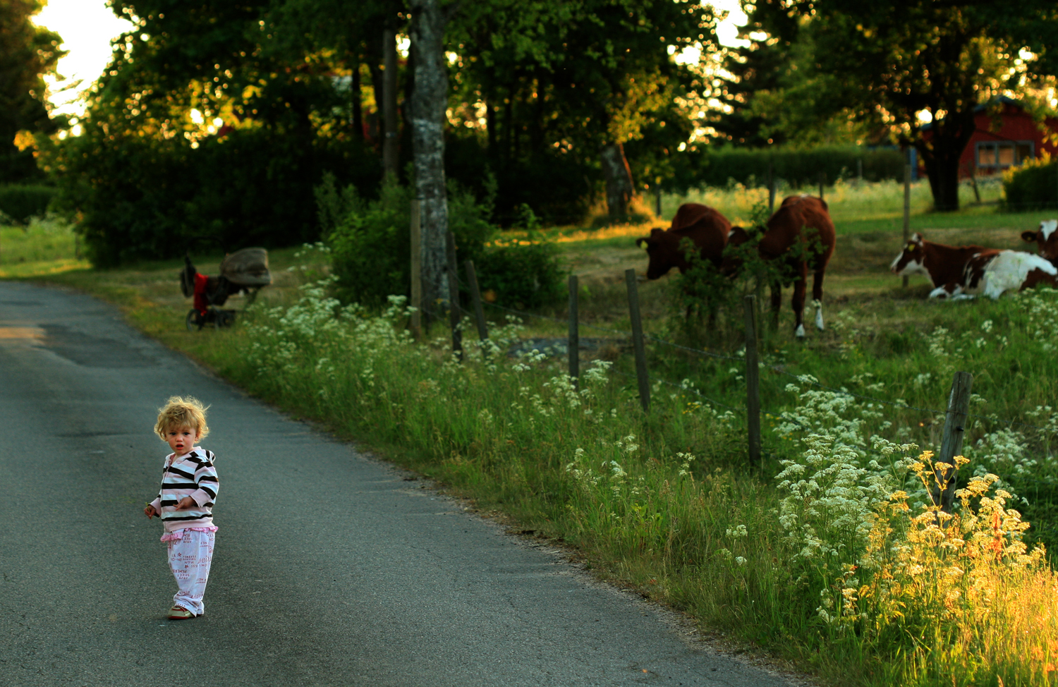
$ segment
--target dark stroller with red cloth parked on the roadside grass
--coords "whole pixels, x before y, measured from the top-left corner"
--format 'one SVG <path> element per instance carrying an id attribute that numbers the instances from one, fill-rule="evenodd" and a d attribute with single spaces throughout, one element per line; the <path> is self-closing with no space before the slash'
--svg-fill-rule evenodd
<path id="1" fill-rule="evenodd" d="M 220 263 L 218 276 L 199 274 L 190 256 L 184 256 L 184 269 L 180 272 L 180 290 L 185 297 L 195 299 L 195 307 L 184 319 L 188 331 L 201 330 L 207 324 L 216 328 L 230 327 L 235 322 L 235 310 L 225 310 L 227 297 L 245 293 L 247 305 L 251 305 L 262 287 L 272 283 L 268 271 L 268 251 L 263 248 L 244 248 L 225 255 Z"/>

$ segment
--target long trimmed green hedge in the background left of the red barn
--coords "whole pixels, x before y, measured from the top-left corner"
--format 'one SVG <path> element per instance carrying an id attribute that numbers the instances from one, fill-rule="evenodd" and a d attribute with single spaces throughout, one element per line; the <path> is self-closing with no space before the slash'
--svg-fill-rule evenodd
<path id="1" fill-rule="evenodd" d="M 701 186 L 726 186 L 729 179 L 747 186 L 763 186 L 768 182 L 768 163 L 772 176 L 789 186 L 813 186 L 819 175 L 827 183 L 839 178 L 853 178 L 857 161 L 862 161 L 863 179 L 882 181 L 904 178 L 904 155 L 896 148 L 861 146 L 821 146 L 818 148 L 734 148 L 726 146 L 711 150 L 699 171 Z"/>

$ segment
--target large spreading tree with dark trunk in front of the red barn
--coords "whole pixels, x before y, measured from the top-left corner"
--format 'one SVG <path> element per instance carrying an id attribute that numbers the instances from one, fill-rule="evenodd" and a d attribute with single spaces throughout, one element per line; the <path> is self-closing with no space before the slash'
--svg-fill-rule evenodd
<path id="1" fill-rule="evenodd" d="M 914 146 L 941 211 L 959 207 L 959 160 L 974 131 L 974 108 L 1022 93 L 1047 73 L 1058 46 L 1058 13 L 1041 0 L 1016 7 L 761 0 L 752 19 L 763 30 L 782 24 L 787 36 L 809 38 L 811 60 L 801 65 L 807 74 L 782 91 L 782 101 L 819 122 L 844 112 Z"/>

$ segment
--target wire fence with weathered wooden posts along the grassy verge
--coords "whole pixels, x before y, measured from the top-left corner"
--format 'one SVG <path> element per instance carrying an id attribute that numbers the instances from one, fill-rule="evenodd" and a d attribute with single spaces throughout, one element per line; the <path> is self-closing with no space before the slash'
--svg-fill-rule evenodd
<path id="1" fill-rule="evenodd" d="M 579 281 L 576 275 L 569 276 L 569 308 L 568 308 L 568 319 L 559 320 L 557 318 L 550 318 L 547 315 L 536 314 L 532 312 L 527 312 L 524 310 L 517 310 L 513 308 L 504 307 L 494 303 L 486 303 L 481 299 L 480 291 L 477 286 L 477 277 L 474 270 L 474 264 L 471 260 L 467 260 L 463 265 L 466 278 L 461 278 L 460 275 L 455 272 L 454 266 L 449 265 L 450 275 L 455 278 L 450 279 L 450 301 L 446 306 L 446 312 L 438 311 L 432 308 L 426 308 L 431 315 L 438 322 L 448 320 L 452 327 L 452 347 L 453 352 L 459 360 L 462 360 L 462 323 L 463 315 L 461 313 L 460 307 L 458 305 L 458 292 L 459 287 L 464 287 L 471 294 L 471 302 L 473 308 L 474 324 L 476 325 L 477 335 L 481 342 L 489 339 L 489 323 L 485 317 L 485 307 L 488 306 L 490 309 L 501 311 L 506 314 L 515 315 L 523 319 L 537 319 L 542 321 L 550 321 L 554 323 L 565 324 L 568 327 L 568 333 L 566 338 L 566 352 L 568 361 L 568 376 L 571 378 L 573 384 L 576 385 L 580 377 L 580 329 L 581 323 L 579 321 Z M 760 327 L 758 323 L 758 307 L 756 307 L 756 296 L 747 295 L 744 297 L 744 323 L 745 323 L 745 350 L 743 356 L 732 356 L 715 350 L 707 350 L 703 348 L 695 348 L 691 346 L 685 346 L 674 342 L 665 341 L 657 337 L 653 337 L 643 331 L 642 321 L 639 317 L 639 293 L 638 293 L 638 281 L 635 274 L 635 270 L 625 271 L 625 285 L 627 289 L 627 307 L 630 314 L 630 330 L 618 330 L 607 327 L 600 327 L 598 325 L 587 325 L 591 329 L 600 332 L 605 332 L 619 338 L 619 340 L 628 341 L 631 340 L 632 349 L 635 359 L 635 375 L 626 375 L 624 373 L 613 370 L 613 374 L 624 377 L 630 380 L 631 383 L 635 383 L 638 398 L 642 411 L 644 414 L 651 412 L 651 388 L 656 384 L 663 384 L 682 393 L 692 394 L 698 397 L 703 402 L 708 403 L 714 408 L 725 409 L 745 416 L 745 432 L 746 432 L 746 446 L 747 446 L 747 460 L 750 465 L 761 465 L 763 467 L 764 456 L 762 454 L 762 438 L 761 438 L 761 414 L 764 409 L 761 404 L 761 388 L 760 388 L 760 373 L 761 370 L 768 370 L 770 373 L 789 377 L 790 379 L 802 383 L 809 384 L 819 390 L 823 390 L 833 394 L 846 396 L 850 398 L 857 399 L 859 401 L 878 403 L 880 405 L 888 405 L 891 408 L 897 408 L 901 410 L 911 410 L 918 413 L 925 413 L 929 416 L 938 417 L 943 416 L 944 426 L 941 435 L 941 448 L 937 453 L 935 463 L 941 466 L 948 466 L 945 468 L 940 468 L 943 472 L 937 473 L 937 483 L 946 485 L 946 487 L 935 496 L 937 498 L 937 503 L 941 504 L 946 510 L 952 507 L 954 502 L 954 491 L 955 483 L 952 480 L 952 473 L 954 465 L 954 456 L 961 455 L 963 449 L 963 437 L 968 429 L 968 422 L 970 420 L 984 420 L 992 423 L 1005 424 L 1009 428 L 1022 427 L 1026 429 L 1032 429 L 1040 432 L 1042 435 L 1046 436 L 1050 432 L 1046 428 L 1038 427 L 1035 424 L 1029 424 L 1026 422 L 1021 422 L 1019 420 L 1003 419 L 998 416 L 986 416 L 981 414 L 970 413 L 970 392 L 972 388 L 973 377 L 966 372 L 955 372 L 952 378 L 950 393 L 948 396 L 947 406 L 944 410 L 938 410 L 935 408 L 922 408 L 916 405 L 910 405 L 908 403 L 893 401 L 889 399 L 878 398 L 875 396 L 869 396 L 863 394 L 857 394 L 850 392 L 845 388 L 837 388 L 823 384 L 818 380 L 804 376 L 795 375 L 789 373 L 779 366 L 769 365 L 760 360 L 758 356 L 759 348 L 759 333 Z M 715 398 L 711 398 L 701 394 L 698 390 L 693 388 L 685 383 L 677 383 L 669 379 L 659 378 L 657 376 L 652 376 L 650 374 L 650 364 L 646 357 L 646 344 L 657 346 L 665 346 L 674 350 L 680 350 L 686 354 L 691 354 L 694 356 L 707 357 L 717 360 L 730 361 L 745 366 L 745 381 L 746 381 L 746 395 L 745 402 L 738 405 L 733 405 L 731 403 L 725 403 Z M 485 348 L 482 347 L 482 351 Z M 484 355 L 484 354 L 482 354 Z M 778 413 L 777 413 L 778 415 Z M 801 426 L 796 419 L 790 419 L 795 424 Z M 804 428 L 801 426 L 803 429 Z M 853 448 L 861 449 L 863 451 L 868 450 L 864 446 L 855 446 Z M 1019 476 L 1020 481 L 1027 481 L 1037 483 L 1039 485 L 1045 485 L 1048 487 L 1058 487 L 1058 483 L 1052 483 L 1045 480 L 1037 480 L 1032 477 Z"/>

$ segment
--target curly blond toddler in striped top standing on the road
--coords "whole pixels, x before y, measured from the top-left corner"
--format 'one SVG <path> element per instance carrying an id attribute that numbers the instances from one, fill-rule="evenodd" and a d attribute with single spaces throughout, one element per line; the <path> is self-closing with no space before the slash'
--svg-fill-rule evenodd
<path id="1" fill-rule="evenodd" d="M 162 488 L 147 504 L 148 519 L 159 516 L 169 547 L 169 567 L 179 591 L 172 597 L 169 619 L 195 618 L 205 612 L 202 596 L 213 561 L 213 503 L 217 499 L 217 470 L 212 451 L 196 446 L 209 433 L 205 408 L 195 398 L 171 397 L 159 410 L 154 432 L 168 442 Z"/>

